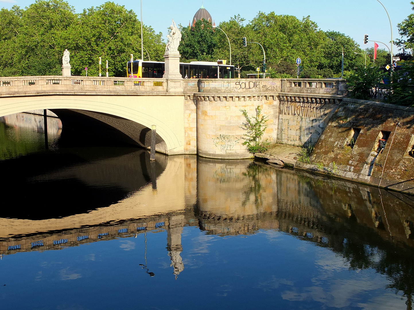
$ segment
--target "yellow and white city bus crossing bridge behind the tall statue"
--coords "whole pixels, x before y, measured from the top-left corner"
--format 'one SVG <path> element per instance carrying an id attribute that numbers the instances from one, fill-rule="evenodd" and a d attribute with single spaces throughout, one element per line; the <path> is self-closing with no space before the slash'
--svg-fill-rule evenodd
<path id="1" fill-rule="evenodd" d="M 132 73 L 131 73 L 132 69 Z M 128 61 L 127 76 L 129 78 L 162 78 L 165 71 L 165 63 L 161 61 Z M 192 61 L 180 63 L 180 73 L 183 78 L 193 79 L 231 79 L 234 78 L 234 66 L 218 65 L 211 61 Z"/>

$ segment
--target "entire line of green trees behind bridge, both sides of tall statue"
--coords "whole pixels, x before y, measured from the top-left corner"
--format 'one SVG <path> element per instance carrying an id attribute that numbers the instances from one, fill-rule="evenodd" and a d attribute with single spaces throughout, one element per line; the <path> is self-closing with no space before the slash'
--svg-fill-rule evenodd
<path id="1" fill-rule="evenodd" d="M 414 8 L 414 2 L 412 2 Z M 13 6 L 0 10 L 0 76 L 60 75 L 63 51 L 70 51 L 72 73 L 97 75 L 98 59 L 108 60 L 110 76 L 125 76 L 130 54 L 140 58 L 140 21 L 132 10 L 114 2 L 105 2 L 77 14 L 64 0 L 36 0 L 24 9 Z M 404 40 L 402 48 L 414 44 L 414 14 L 398 24 Z M 331 78 L 341 75 L 342 49 L 344 70 L 349 75 L 364 66 L 373 66 L 373 48 L 363 51 L 354 39 L 337 31 L 322 31 L 309 16 L 298 19 L 274 12 L 258 14 L 246 22 L 240 15 L 219 24 L 231 44 L 231 61 L 246 77 L 262 66 L 262 48 L 266 53 L 268 73 L 272 78 L 296 76 L 296 58 L 302 59 L 304 78 Z M 182 61 L 230 60 L 229 42 L 223 31 L 200 20 L 193 27 L 180 25 Z M 165 42 L 161 33 L 143 25 L 144 59 L 163 61 Z M 148 53 L 147 53 L 148 51 Z M 389 62 L 390 56 L 378 49 L 375 66 Z M 239 75 L 240 76 L 240 75 Z"/>

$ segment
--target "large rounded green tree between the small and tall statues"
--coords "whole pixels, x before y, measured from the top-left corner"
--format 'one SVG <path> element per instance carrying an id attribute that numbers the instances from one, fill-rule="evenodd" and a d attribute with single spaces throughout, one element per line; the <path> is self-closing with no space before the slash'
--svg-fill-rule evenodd
<path id="1" fill-rule="evenodd" d="M 71 42 L 72 71 L 85 75 L 99 73 L 99 57 L 103 63 L 108 60 L 110 76 L 125 76 L 130 54 L 141 58 L 141 25 L 132 10 L 123 5 L 105 2 L 98 7 L 84 10 L 77 22 L 67 31 L 67 42 Z M 155 34 L 151 27 L 143 27 L 143 45 L 151 60 L 164 60 L 164 44 L 161 33 Z M 147 53 L 144 51 L 144 59 Z M 148 58 L 146 58 L 148 59 Z"/>

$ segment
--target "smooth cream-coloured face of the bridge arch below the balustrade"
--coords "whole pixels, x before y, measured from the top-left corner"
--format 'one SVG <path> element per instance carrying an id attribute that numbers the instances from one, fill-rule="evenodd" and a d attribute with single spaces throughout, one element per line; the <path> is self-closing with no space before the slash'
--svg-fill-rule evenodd
<path id="1" fill-rule="evenodd" d="M 160 151 L 168 155 L 183 153 L 184 111 L 179 96 L 43 95 L 4 97 L 1 102 L 0 116 L 36 109 L 72 109 L 113 115 L 147 128 L 156 125 L 157 134 L 166 144 Z"/>

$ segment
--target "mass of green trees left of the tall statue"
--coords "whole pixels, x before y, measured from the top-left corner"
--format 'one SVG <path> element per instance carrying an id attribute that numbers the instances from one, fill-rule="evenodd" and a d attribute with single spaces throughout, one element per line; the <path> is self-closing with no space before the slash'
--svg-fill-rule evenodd
<path id="1" fill-rule="evenodd" d="M 141 54 L 137 15 L 114 2 L 76 14 L 63 0 L 37 0 L 25 9 L 1 9 L 0 24 L 0 76 L 60 75 L 65 48 L 74 75 L 84 75 L 84 67 L 98 75 L 102 57 L 103 63 L 108 60 L 110 76 L 125 76 L 130 54 Z M 144 48 L 151 60 L 163 60 L 161 36 L 143 25 Z"/>

